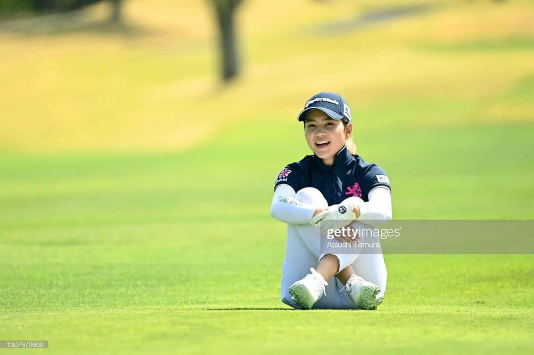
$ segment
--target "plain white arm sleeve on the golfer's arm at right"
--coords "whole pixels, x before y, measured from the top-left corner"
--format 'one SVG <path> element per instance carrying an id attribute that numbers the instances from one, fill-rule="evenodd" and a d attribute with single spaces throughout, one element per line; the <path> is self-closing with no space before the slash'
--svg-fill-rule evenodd
<path id="1" fill-rule="evenodd" d="M 385 186 L 375 187 L 369 192 L 369 201 L 364 202 L 359 197 L 350 197 L 349 199 L 356 199 L 356 203 L 360 209 L 360 215 L 357 220 L 362 221 L 373 226 L 391 221 L 391 192 Z"/>

